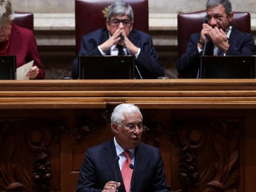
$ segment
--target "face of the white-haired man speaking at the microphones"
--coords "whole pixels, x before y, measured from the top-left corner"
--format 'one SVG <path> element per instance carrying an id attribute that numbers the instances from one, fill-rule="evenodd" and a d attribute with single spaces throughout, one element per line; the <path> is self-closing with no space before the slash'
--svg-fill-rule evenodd
<path id="1" fill-rule="evenodd" d="M 134 149 L 142 140 L 143 130 L 139 129 L 140 125 L 142 125 L 142 116 L 139 112 L 134 112 L 132 114 L 124 114 L 124 117 L 125 119 L 121 125 L 113 123 L 116 141 L 126 150 Z M 129 127 L 134 128 L 129 129 Z"/>

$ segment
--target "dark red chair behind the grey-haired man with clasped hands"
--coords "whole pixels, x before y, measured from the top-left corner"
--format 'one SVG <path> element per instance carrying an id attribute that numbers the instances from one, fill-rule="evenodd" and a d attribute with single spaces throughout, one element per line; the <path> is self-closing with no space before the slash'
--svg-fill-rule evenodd
<path id="1" fill-rule="evenodd" d="M 114 0 L 75 0 L 75 44 L 79 52 L 83 35 L 105 27 L 102 10 Z M 148 33 L 148 0 L 126 0 L 134 10 L 134 28 Z"/>

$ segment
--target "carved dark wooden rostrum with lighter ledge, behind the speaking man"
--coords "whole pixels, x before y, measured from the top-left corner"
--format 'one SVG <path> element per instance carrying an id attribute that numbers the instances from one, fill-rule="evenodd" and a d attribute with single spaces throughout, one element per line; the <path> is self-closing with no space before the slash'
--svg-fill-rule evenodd
<path id="1" fill-rule="evenodd" d="M 0 191 L 75 191 L 85 150 L 137 104 L 173 191 L 256 188 L 256 81 L 2 80 Z"/>

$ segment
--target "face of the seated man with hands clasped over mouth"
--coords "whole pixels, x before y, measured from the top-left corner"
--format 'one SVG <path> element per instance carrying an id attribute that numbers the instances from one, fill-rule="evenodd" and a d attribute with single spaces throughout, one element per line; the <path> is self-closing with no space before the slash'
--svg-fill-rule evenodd
<path id="1" fill-rule="evenodd" d="M 112 36 L 114 31 L 119 29 L 124 29 L 126 36 L 129 36 L 130 31 L 132 31 L 133 22 L 129 19 L 128 15 L 114 15 L 111 20 L 106 21 L 106 27 L 108 28 L 109 34 Z"/>

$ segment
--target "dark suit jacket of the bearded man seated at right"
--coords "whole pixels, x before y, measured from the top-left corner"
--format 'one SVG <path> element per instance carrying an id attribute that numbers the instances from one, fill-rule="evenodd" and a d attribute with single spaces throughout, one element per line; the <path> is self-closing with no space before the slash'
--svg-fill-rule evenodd
<path id="1" fill-rule="evenodd" d="M 187 44 L 186 52 L 177 60 L 177 70 L 182 77 L 197 77 L 198 67 L 200 66 L 200 54 L 198 53 L 197 43 L 200 40 L 200 33 L 191 35 Z M 252 56 L 254 55 L 254 37 L 250 33 L 243 33 L 236 28 L 232 28 L 229 36 L 229 48 L 227 56 Z M 213 55 L 213 43 L 207 43 L 205 55 Z"/>

